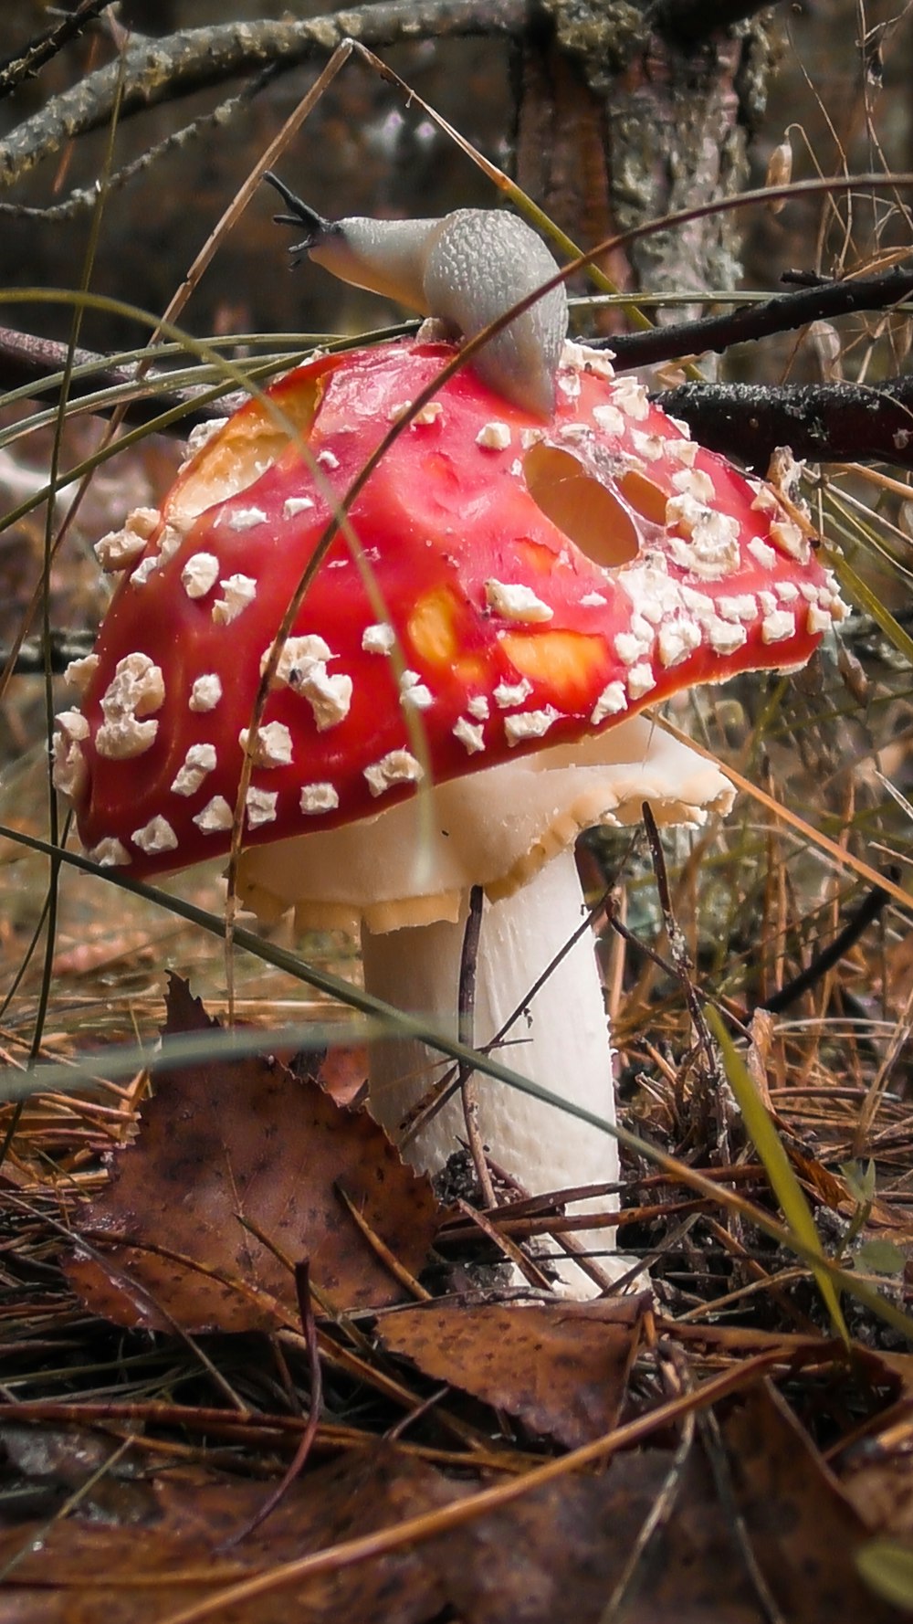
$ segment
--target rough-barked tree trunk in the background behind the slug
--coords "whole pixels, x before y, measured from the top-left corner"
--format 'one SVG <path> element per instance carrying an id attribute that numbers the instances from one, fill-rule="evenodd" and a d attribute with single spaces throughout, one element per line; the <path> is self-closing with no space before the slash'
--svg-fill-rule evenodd
<path id="1" fill-rule="evenodd" d="M 699 8 L 686 10 L 694 21 Z M 731 13 L 703 6 L 707 26 L 682 32 L 674 6 L 543 0 L 518 58 L 517 179 L 577 242 L 744 188 L 772 23 L 733 26 Z M 660 231 L 603 270 L 625 291 L 694 289 L 699 299 L 736 284 L 739 224 L 721 214 Z"/>

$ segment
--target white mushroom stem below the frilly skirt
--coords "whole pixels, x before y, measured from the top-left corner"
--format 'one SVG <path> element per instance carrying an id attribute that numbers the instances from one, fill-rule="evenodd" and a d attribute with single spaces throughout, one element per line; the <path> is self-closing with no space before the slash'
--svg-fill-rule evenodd
<path id="1" fill-rule="evenodd" d="M 473 1005 L 476 1047 L 484 1047 L 523 1005 L 533 984 L 578 931 L 585 911 L 572 849 L 547 862 L 512 896 L 484 905 Z M 466 913 L 468 896 L 456 924 L 437 922 L 383 935 L 366 929 L 367 991 L 456 1036 Z M 588 931 L 554 966 L 494 1052 L 531 1082 L 614 1122 L 609 1028 Z M 370 1111 L 393 1138 L 450 1067 L 450 1060 L 414 1039 L 387 1039 L 374 1046 Z M 531 1194 L 617 1179 L 617 1147 L 609 1134 L 481 1072 L 474 1091 L 482 1142 Z M 406 1158 L 435 1171 L 465 1137 L 463 1103 L 455 1093 L 409 1140 Z M 601 1195 L 575 1202 L 569 1212 L 604 1212 L 611 1205 Z M 612 1241 L 611 1228 L 585 1234 L 585 1244 L 593 1249 L 611 1247 Z"/>

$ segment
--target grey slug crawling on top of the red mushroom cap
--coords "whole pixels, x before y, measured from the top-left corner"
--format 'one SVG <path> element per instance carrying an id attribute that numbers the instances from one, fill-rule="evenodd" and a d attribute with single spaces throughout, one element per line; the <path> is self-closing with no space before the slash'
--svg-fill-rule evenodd
<path id="1" fill-rule="evenodd" d="M 461 208 L 442 219 L 325 221 L 275 175 L 266 179 L 294 209 L 276 219 L 309 229 L 292 253 L 304 252 L 341 281 L 437 317 L 463 338 L 474 338 L 557 271 L 541 237 L 515 214 Z M 549 417 L 565 336 L 560 284 L 495 333 L 471 364 L 497 395 Z"/>

